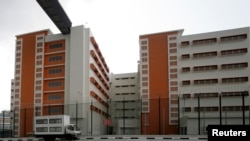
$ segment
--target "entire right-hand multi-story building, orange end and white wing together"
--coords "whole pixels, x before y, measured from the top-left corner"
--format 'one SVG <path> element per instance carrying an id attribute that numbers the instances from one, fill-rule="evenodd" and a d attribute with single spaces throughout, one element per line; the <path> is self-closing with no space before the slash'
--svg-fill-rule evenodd
<path id="1" fill-rule="evenodd" d="M 142 134 L 249 122 L 249 27 L 182 33 L 140 36 Z"/>

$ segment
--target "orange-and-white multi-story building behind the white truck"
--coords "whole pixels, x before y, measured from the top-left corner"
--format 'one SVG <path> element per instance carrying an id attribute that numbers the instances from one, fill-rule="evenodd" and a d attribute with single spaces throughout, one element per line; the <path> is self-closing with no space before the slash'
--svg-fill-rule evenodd
<path id="1" fill-rule="evenodd" d="M 69 34 L 41 30 L 16 36 L 13 104 L 15 136 L 33 132 L 33 117 L 70 115 L 83 135 L 104 134 L 109 68 L 89 28 Z"/>

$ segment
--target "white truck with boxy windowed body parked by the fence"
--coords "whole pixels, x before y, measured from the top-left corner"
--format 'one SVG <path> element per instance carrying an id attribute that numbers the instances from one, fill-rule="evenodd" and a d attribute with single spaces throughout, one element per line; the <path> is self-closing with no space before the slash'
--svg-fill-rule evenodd
<path id="1" fill-rule="evenodd" d="M 75 124 L 70 124 L 68 115 L 35 116 L 34 136 L 45 141 L 54 141 L 56 138 L 77 140 L 81 135 Z"/>

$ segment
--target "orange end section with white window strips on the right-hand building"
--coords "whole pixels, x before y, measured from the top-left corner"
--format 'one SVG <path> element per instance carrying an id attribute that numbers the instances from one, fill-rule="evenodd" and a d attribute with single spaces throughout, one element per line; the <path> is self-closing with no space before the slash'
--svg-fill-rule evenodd
<path id="1" fill-rule="evenodd" d="M 139 37 L 142 134 L 178 133 L 176 44 L 181 34 L 176 30 Z"/>

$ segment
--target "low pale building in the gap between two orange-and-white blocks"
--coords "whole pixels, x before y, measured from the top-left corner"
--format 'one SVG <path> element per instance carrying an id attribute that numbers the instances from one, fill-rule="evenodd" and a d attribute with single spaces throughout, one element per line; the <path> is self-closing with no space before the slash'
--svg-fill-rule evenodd
<path id="1" fill-rule="evenodd" d="M 138 73 L 111 74 L 110 108 L 111 134 L 140 134 L 140 95 Z"/>

